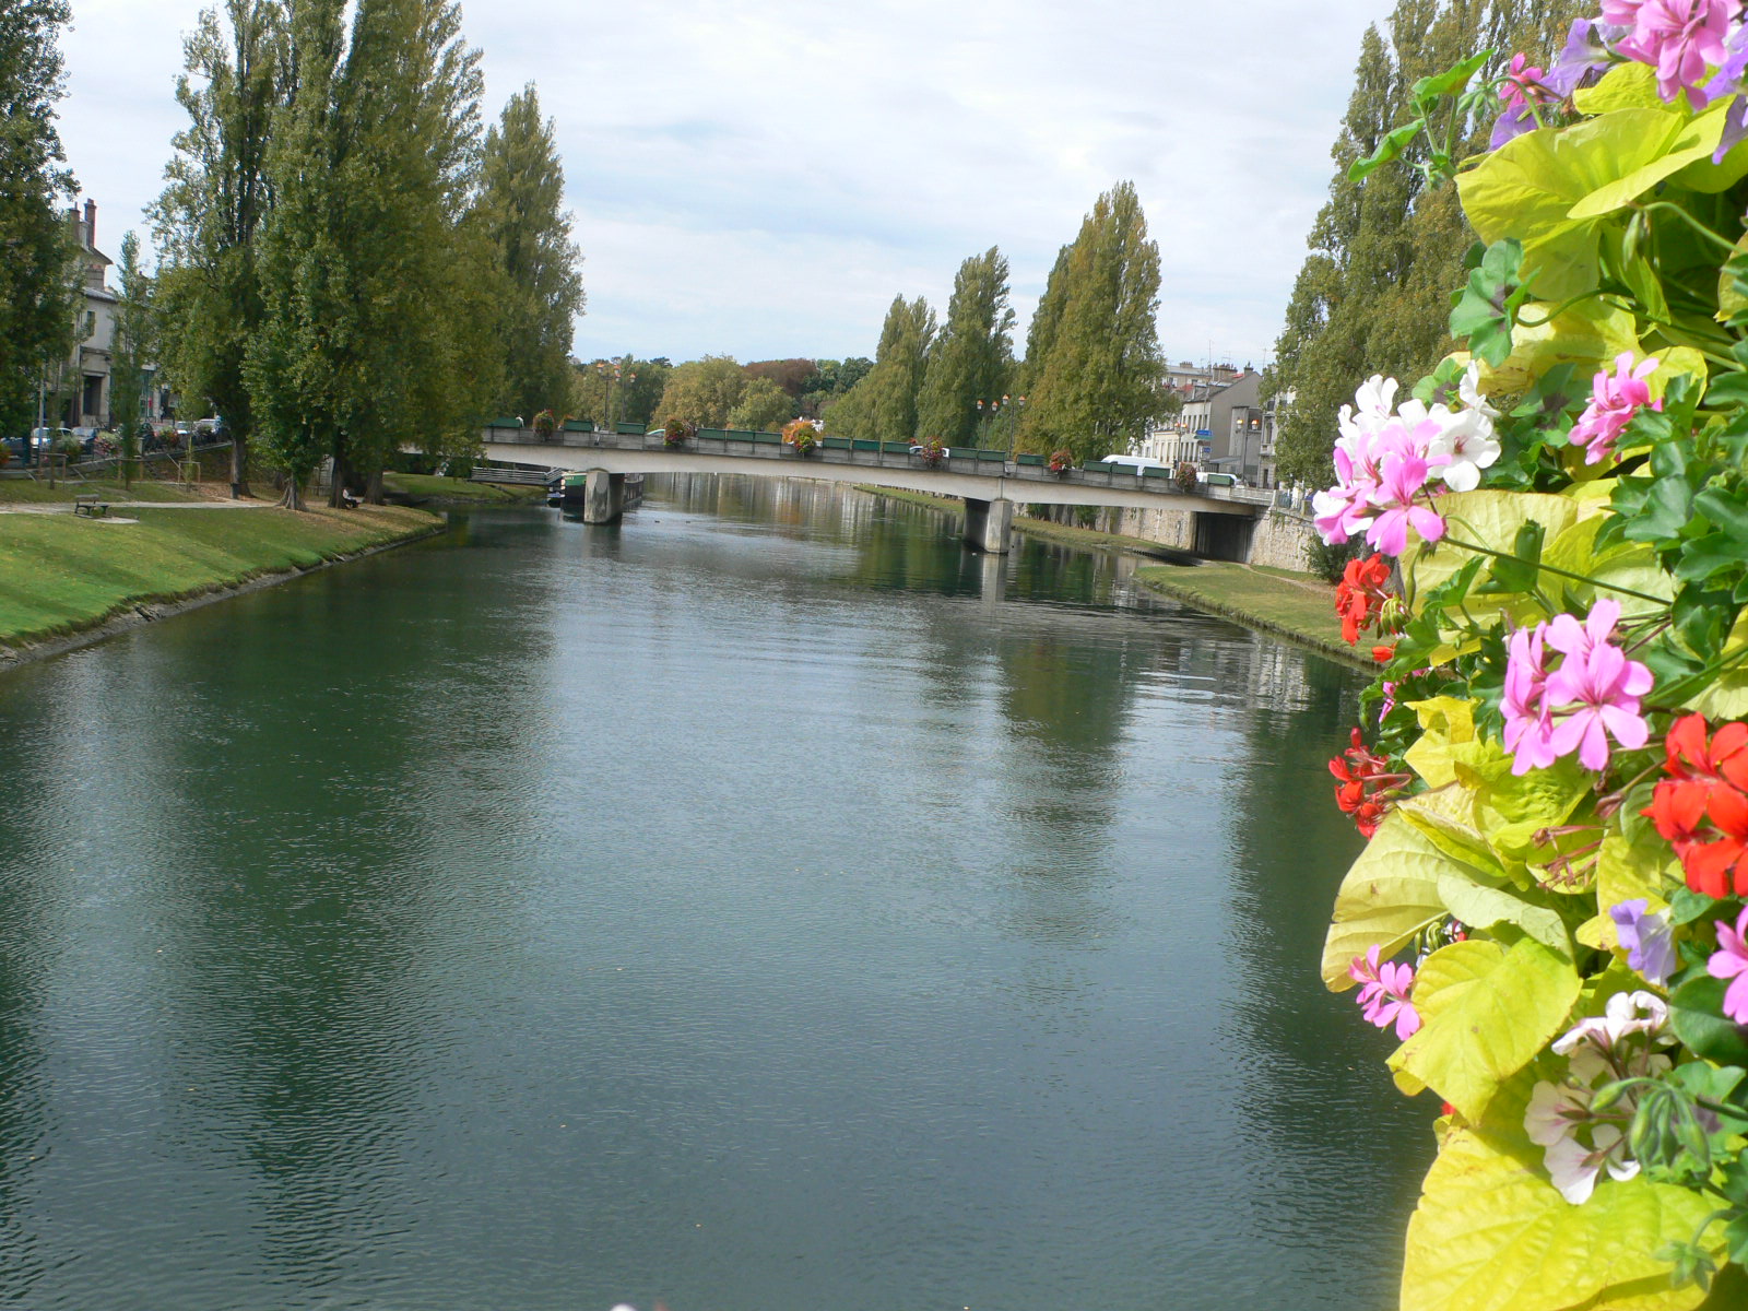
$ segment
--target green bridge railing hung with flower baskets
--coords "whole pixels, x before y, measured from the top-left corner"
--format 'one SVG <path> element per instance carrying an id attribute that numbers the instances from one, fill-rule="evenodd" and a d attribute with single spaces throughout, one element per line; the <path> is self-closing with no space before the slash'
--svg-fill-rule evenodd
<path id="1" fill-rule="evenodd" d="M 502 442 L 533 447 L 605 447 L 615 451 L 662 451 L 676 453 L 697 451 L 703 454 L 729 454 L 750 460 L 792 460 L 795 463 L 836 463 L 865 465 L 869 468 L 937 468 L 951 474 L 981 474 L 986 477 L 1005 477 L 1021 482 L 1080 482 L 1096 488 L 1120 488 L 1127 491 L 1154 491 L 1161 496 L 1196 495 L 1206 500 L 1239 502 L 1248 505 L 1269 505 L 1274 502 L 1273 491 L 1238 486 L 1201 484 L 1194 493 L 1185 493 L 1175 477 L 1175 470 L 1161 467 L 1136 468 L 1133 465 L 1106 465 L 1091 461 L 1079 468 L 1066 468 L 1052 474 L 1042 454 L 1010 454 L 1009 451 L 982 451 L 965 446 L 951 447 L 946 456 L 930 465 L 911 442 L 876 442 L 865 437 L 822 437 L 809 453 L 801 454 L 794 446 L 787 446 L 774 432 L 752 432 L 743 428 L 699 428 L 682 447 L 668 447 L 662 434 L 640 432 L 638 425 L 619 425 L 619 432 L 594 430 L 580 432 L 561 428 L 552 434 L 537 434 L 533 428 L 512 428 L 493 425 L 486 428 L 488 442 Z M 797 470 L 799 472 L 799 470 Z"/>

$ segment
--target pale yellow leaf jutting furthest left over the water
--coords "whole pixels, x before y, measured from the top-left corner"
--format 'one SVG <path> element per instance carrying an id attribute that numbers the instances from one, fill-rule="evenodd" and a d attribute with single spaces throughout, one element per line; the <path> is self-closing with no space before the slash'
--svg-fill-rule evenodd
<path id="1" fill-rule="evenodd" d="M 1335 893 L 1323 940 L 1323 984 L 1335 993 L 1353 988 L 1348 967 L 1355 956 L 1374 944 L 1379 956 L 1391 956 L 1426 925 L 1444 919 L 1439 874 L 1451 865 L 1451 857 L 1405 818 L 1386 815 Z"/>

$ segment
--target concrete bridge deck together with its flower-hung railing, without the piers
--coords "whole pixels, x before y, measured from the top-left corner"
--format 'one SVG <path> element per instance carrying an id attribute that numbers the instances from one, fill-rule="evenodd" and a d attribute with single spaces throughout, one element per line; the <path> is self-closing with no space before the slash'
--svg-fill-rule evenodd
<path id="1" fill-rule="evenodd" d="M 612 432 L 559 432 L 547 440 L 531 428 L 486 428 L 486 458 L 542 470 L 603 468 L 610 474 L 753 474 L 809 477 L 829 482 L 872 482 L 944 496 L 1016 500 L 1047 505 L 1115 505 L 1257 516 L 1273 503 L 1267 491 L 1215 488 L 1185 493 L 1171 477 L 1143 477 L 1133 468 L 1072 468 L 1052 474 L 1042 465 L 1010 461 L 1000 451 L 954 449 L 939 467 L 926 465 L 893 442 L 855 442 L 851 449 L 818 447 L 797 456 L 773 434 L 704 432 L 682 447 L 661 437 Z M 898 446 L 898 449 L 893 449 Z"/>

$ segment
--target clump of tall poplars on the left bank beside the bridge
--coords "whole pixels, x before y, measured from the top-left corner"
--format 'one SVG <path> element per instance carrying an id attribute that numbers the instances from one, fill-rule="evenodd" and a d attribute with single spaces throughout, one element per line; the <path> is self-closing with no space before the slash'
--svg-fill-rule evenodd
<path id="1" fill-rule="evenodd" d="M 533 86 L 481 133 L 454 0 L 225 0 L 185 44 L 143 327 L 168 379 L 288 498 L 332 456 L 379 493 L 402 444 L 563 404 L 579 253 Z"/>

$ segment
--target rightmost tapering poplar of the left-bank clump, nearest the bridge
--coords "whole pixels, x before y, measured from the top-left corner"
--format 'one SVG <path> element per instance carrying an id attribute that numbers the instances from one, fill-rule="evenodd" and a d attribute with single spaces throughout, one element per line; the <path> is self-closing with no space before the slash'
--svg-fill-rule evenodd
<path id="1" fill-rule="evenodd" d="M 573 320 L 582 313 L 580 253 L 563 212 L 565 168 L 552 121 L 530 82 L 486 133 L 479 210 L 503 273 L 498 351 L 505 414 L 563 409 Z"/>

